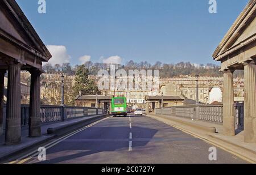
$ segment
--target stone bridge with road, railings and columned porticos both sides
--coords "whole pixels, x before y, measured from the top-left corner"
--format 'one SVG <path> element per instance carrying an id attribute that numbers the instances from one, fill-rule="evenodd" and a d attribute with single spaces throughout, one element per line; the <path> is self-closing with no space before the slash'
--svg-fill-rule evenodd
<path id="1" fill-rule="evenodd" d="M 42 65 L 52 56 L 14 0 L 0 1 L 0 10 L 3 163 L 256 162 L 255 0 L 248 3 L 213 54 L 224 73 L 223 105 L 160 108 L 157 97 L 155 113 L 149 113 L 146 104 L 147 116 L 142 117 L 113 117 L 104 108 L 41 105 Z M 20 103 L 22 70 L 31 74 L 29 105 Z M 235 70 L 245 70 L 244 104 L 234 104 Z M 45 160 L 38 156 L 38 148 L 45 151 Z"/>

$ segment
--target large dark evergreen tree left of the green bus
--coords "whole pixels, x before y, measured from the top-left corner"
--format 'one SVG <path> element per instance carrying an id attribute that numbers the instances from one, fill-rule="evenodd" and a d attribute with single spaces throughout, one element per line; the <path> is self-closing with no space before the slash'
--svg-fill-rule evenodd
<path id="1" fill-rule="evenodd" d="M 97 84 L 88 78 L 89 71 L 85 65 L 77 67 L 75 86 L 73 87 L 73 96 L 79 95 L 81 91 L 82 95 L 100 95 L 101 92 L 97 87 Z"/>

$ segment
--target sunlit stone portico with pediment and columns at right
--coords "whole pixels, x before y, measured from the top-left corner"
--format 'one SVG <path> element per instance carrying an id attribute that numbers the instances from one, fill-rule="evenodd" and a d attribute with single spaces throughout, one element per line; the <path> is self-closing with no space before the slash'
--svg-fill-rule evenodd
<path id="1" fill-rule="evenodd" d="M 221 62 L 223 126 L 225 135 L 235 135 L 233 72 L 244 70 L 244 140 L 256 143 L 256 0 L 250 0 L 213 53 Z"/>

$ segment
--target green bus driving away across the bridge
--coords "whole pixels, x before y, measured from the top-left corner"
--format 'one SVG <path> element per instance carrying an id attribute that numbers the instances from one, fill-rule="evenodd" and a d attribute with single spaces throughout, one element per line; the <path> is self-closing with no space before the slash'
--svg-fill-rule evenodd
<path id="1" fill-rule="evenodd" d="M 126 97 L 114 97 L 111 100 L 111 113 L 113 116 L 127 116 Z"/>

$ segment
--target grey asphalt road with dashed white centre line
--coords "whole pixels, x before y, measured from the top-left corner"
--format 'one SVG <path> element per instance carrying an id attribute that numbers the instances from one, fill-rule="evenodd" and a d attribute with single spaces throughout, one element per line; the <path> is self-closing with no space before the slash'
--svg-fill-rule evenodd
<path id="1" fill-rule="evenodd" d="M 217 148 L 210 161 L 210 144 L 150 117 L 109 117 L 69 136 L 24 163 L 246 163 Z"/>

